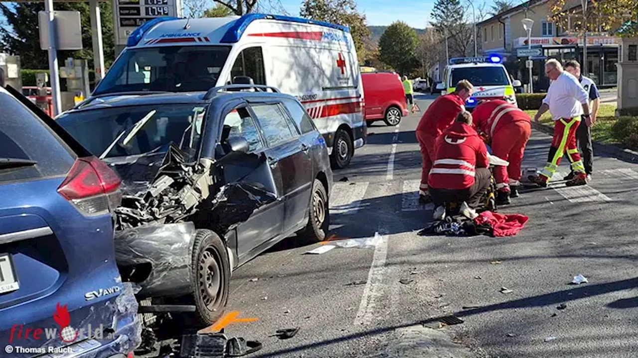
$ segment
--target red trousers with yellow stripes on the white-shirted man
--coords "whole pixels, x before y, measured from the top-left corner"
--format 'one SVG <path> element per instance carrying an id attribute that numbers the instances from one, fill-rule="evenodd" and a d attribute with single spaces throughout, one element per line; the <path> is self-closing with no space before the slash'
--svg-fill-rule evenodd
<path id="1" fill-rule="evenodd" d="M 554 122 L 554 139 L 549 147 L 549 155 L 547 156 L 547 165 L 540 172 L 540 175 L 549 180 L 556 169 L 560 160 L 567 152 L 567 157 L 572 163 L 572 170 L 575 173 L 585 173 L 585 167 L 582 165 L 581 155 L 578 153 L 576 146 L 576 129 L 581 124 L 581 117 L 560 118 Z"/>

